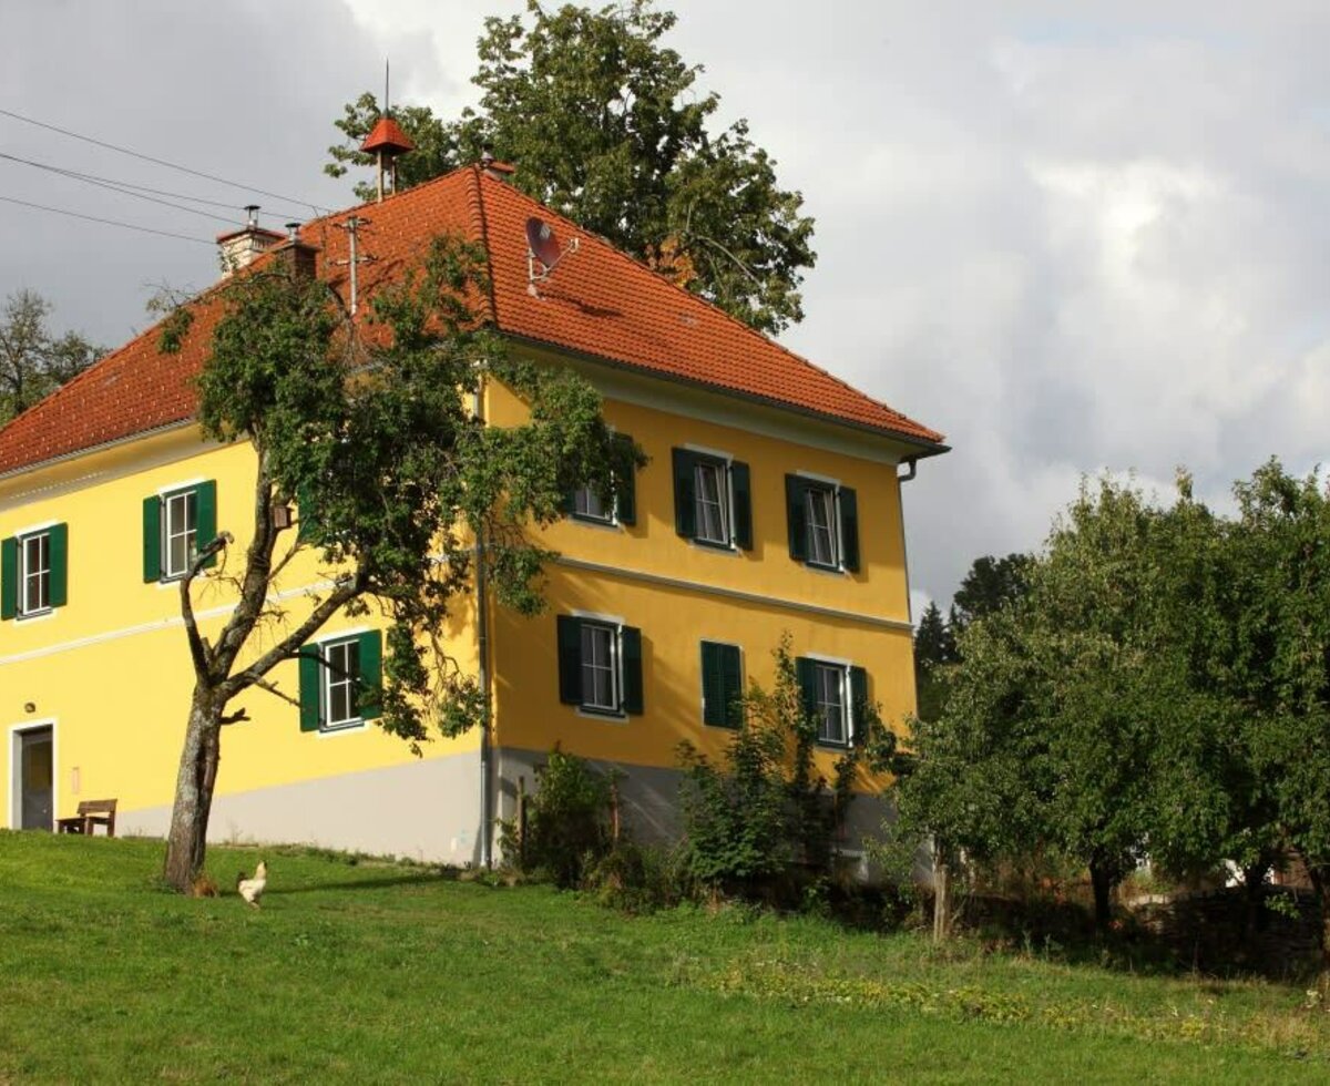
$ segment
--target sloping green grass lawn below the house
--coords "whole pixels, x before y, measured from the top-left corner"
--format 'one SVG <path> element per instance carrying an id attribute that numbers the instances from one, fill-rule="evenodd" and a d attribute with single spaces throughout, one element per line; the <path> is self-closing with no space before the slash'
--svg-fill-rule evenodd
<path id="1" fill-rule="evenodd" d="M 254 911 L 164 892 L 161 849 L 0 831 L 0 1083 L 1330 1081 L 1297 988 L 298 849 Z"/>

